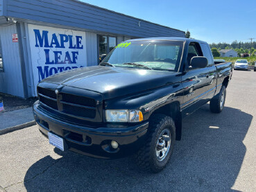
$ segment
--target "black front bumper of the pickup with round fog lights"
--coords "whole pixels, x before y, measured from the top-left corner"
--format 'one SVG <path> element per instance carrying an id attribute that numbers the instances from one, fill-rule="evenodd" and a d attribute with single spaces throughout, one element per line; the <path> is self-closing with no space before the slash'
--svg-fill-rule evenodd
<path id="1" fill-rule="evenodd" d="M 91 157 L 125 157 L 136 152 L 146 141 L 148 122 L 133 126 L 116 125 L 116 128 L 92 128 L 60 119 L 56 114 L 44 110 L 39 103 L 33 106 L 33 114 L 44 136 L 48 137 L 48 132 L 57 134 L 64 139 L 65 149 Z M 112 140 L 119 143 L 117 149 L 111 147 Z"/>

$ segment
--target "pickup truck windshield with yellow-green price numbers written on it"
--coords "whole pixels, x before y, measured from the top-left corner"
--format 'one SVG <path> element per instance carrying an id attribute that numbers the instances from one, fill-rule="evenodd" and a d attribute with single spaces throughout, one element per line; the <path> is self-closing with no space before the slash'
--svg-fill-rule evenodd
<path id="1" fill-rule="evenodd" d="M 183 42 L 134 41 L 117 45 L 101 62 L 114 67 L 178 71 Z"/>

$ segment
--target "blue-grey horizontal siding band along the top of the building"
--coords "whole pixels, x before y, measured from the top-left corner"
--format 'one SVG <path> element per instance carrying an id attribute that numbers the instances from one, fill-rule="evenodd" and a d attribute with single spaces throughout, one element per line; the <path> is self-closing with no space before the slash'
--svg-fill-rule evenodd
<path id="1" fill-rule="evenodd" d="M 185 33 L 74 0 L 3 0 L 7 15 L 132 37 L 184 37 Z M 139 26 L 139 21 L 140 26 Z"/>

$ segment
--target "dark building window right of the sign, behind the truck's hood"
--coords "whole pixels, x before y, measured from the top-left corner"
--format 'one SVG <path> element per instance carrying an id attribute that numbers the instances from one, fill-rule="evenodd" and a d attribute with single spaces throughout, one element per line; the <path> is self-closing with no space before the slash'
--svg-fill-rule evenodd
<path id="1" fill-rule="evenodd" d="M 117 37 L 99 35 L 99 62 L 117 46 Z"/>

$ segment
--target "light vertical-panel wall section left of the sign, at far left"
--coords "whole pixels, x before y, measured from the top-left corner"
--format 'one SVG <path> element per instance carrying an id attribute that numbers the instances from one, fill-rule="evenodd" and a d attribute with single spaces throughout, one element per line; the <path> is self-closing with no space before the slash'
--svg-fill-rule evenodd
<path id="1" fill-rule="evenodd" d="M 4 69 L 0 72 L 0 92 L 24 97 L 19 43 L 12 42 L 13 33 L 17 33 L 15 24 L 0 26 Z"/>

